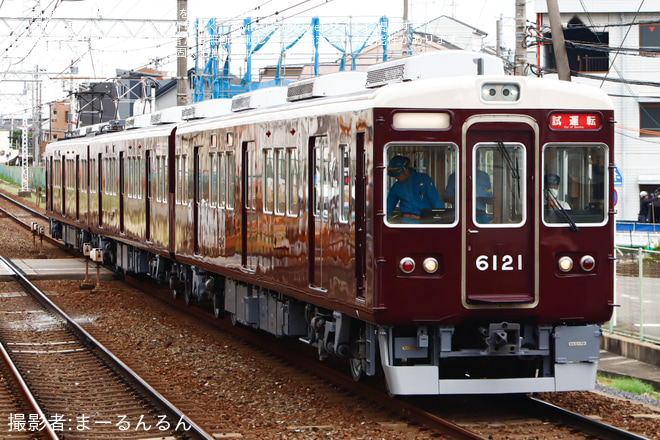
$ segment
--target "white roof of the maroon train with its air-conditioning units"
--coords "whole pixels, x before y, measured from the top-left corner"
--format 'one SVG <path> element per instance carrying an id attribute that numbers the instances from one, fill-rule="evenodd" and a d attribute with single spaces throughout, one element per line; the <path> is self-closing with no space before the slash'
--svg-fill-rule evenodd
<path id="1" fill-rule="evenodd" d="M 491 97 L 492 89 L 514 92 Z M 500 99 L 501 98 L 501 99 Z M 237 95 L 128 118 L 125 130 L 104 138 L 168 135 L 200 124 L 295 118 L 367 108 L 416 109 L 613 109 L 602 90 L 584 84 L 504 75 L 502 61 L 469 51 L 439 51 L 371 66 L 367 72 L 339 72 Z M 240 121 L 240 122 L 238 122 Z M 111 126 L 112 127 L 112 126 Z M 116 128 L 116 127 L 114 127 Z M 118 129 L 118 128 L 116 128 Z M 87 137 L 91 129 L 81 129 Z M 78 138 L 80 139 L 80 138 Z M 92 141 L 90 141 L 92 142 Z M 56 142 L 55 145 L 62 145 Z"/>

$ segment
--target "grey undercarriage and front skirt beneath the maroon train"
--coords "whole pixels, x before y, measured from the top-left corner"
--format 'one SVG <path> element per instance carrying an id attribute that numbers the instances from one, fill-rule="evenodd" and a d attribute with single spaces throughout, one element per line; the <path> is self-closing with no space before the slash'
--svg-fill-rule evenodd
<path id="1" fill-rule="evenodd" d="M 56 220 L 51 235 L 81 252 L 101 249 L 108 267 L 168 283 L 186 304 L 210 301 L 218 318 L 297 337 L 315 346 L 320 360 L 347 359 L 355 380 L 382 375 L 393 395 L 575 391 L 595 383 L 598 325 L 378 326 Z"/>

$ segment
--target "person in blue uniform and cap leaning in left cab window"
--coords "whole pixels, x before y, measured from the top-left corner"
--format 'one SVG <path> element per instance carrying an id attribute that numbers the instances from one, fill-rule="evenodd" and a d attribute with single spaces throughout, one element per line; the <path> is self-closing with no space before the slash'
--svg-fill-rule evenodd
<path id="1" fill-rule="evenodd" d="M 443 208 L 433 180 L 428 175 L 410 168 L 410 159 L 406 156 L 394 156 L 390 159 L 387 174 L 396 179 L 387 194 L 388 220 L 393 220 L 397 205 L 403 223 L 419 223 L 422 209 Z"/>

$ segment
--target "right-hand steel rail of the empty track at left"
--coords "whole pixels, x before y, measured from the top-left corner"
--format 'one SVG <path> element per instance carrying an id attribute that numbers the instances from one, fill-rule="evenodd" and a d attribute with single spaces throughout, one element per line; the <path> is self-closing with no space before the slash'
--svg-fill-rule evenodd
<path id="1" fill-rule="evenodd" d="M 185 434 L 188 437 L 193 437 L 196 439 L 203 440 L 213 440 L 208 433 L 206 433 L 202 428 L 195 424 L 192 420 L 188 418 L 184 413 L 179 411 L 172 403 L 170 403 L 165 397 L 158 393 L 154 388 L 152 388 L 147 382 L 145 382 L 141 377 L 139 377 L 133 370 L 131 370 L 126 364 L 124 364 L 119 358 L 113 355 L 108 351 L 100 342 L 98 342 L 92 335 L 86 332 L 78 323 L 71 319 L 62 309 L 55 305 L 48 297 L 43 294 L 34 284 L 32 284 L 25 274 L 22 273 L 20 268 L 14 265 L 10 260 L 5 259 L 0 256 L 0 264 L 4 263 L 9 267 L 16 277 L 16 281 L 33 297 L 35 298 L 42 306 L 44 306 L 49 311 L 52 311 L 54 314 L 58 315 L 63 319 L 69 329 L 83 342 L 85 342 L 90 349 L 96 351 L 99 356 L 101 356 L 108 365 L 115 371 L 122 374 L 126 377 L 131 385 L 144 395 L 147 400 L 155 401 L 162 409 L 167 412 L 167 416 L 170 420 L 179 420 L 184 422 L 186 425 L 190 426 L 190 429 L 186 432 L 180 434 Z"/>

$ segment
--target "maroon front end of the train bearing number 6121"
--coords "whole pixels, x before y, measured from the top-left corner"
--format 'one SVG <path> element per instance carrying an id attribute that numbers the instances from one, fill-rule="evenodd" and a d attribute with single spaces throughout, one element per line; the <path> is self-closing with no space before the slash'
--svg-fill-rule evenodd
<path id="1" fill-rule="evenodd" d="M 595 384 L 613 307 L 612 104 L 488 62 L 376 97 L 374 338 L 393 394 Z"/>

